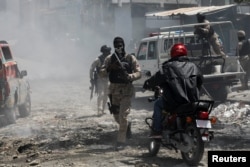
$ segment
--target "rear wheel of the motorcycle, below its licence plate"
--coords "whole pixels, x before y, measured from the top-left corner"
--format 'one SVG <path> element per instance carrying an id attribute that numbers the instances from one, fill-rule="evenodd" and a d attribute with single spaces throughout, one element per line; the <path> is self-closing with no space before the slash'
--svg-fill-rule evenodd
<path id="1" fill-rule="evenodd" d="M 186 127 L 186 134 L 192 137 L 194 145 L 189 152 L 181 152 L 182 159 L 190 166 L 199 164 L 204 153 L 204 142 L 199 129 L 195 125 Z"/>

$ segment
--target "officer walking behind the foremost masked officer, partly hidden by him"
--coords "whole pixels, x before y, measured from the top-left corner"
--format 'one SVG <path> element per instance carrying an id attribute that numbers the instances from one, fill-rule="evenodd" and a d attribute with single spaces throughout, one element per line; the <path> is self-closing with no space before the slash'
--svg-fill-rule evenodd
<path id="1" fill-rule="evenodd" d="M 111 48 L 107 45 L 103 45 L 100 49 L 102 53 L 97 57 L 94 62 L 91 64 L 89 70 L 90 82 L 96 82 L 96 93 L 97 93 L 97 115 L 101 116 L 104 114 L 105 106 L 108 100 L 108 77 L 103 76 L 100 73 L 100 69 L 104 63 L 105 58 L 110 55 Z"/>

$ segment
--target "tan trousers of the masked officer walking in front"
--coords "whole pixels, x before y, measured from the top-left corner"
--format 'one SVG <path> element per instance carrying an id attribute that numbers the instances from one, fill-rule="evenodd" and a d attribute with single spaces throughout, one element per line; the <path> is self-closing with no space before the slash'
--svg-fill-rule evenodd
<path id="1" fill-rule="evenodd" d="M 131 108 L 131 98 L 134 94 L 132 84 L 110 84 L 112 105 L 119 106 L 119 112 L 114 113 L 114 119 L 119 124 L 117 142 L 126 142 L 128 114 Z"/>

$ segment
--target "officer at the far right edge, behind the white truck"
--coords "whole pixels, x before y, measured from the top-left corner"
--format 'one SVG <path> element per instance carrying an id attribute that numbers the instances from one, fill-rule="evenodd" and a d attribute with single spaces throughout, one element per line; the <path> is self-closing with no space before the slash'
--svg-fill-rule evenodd
<path id="1" fill-rule="evenodd" d="M 241 81 L 241 89 L 246 90 L 248 89 L 248 77 L 250 74 L 250 41 L 249 39 L 246 39 L 246 33 L 243 30 L 239 30 L 237 32 L 238 35 L 238 48 L 237 52 L 239 53 L 239 61 L 243 68 L 243 70 L 246 72 L 246 75 L 244 75 L 242 78 L 240 78 Z"/>

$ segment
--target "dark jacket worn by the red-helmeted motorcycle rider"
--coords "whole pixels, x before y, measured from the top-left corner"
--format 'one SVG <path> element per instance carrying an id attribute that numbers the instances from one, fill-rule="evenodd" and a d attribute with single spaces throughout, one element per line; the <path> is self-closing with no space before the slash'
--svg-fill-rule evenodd
<path id="1" fill-rule="evenodd" d="M 167 111 L 170 111 L 181 104 L 199 100 L 202 83 L 203 75 L 200 69 L 190 62 L 188 57 L 181 56 L 164 62 L 162 70 L 145 81 L 144 86 L 148 85 L 151 88 L 160 86 L 166 102 L 164 106 Z"/>

